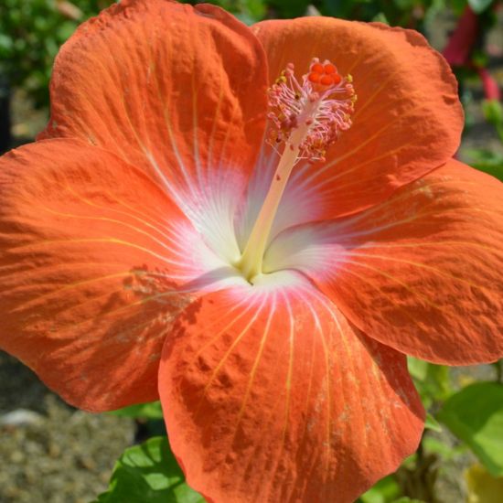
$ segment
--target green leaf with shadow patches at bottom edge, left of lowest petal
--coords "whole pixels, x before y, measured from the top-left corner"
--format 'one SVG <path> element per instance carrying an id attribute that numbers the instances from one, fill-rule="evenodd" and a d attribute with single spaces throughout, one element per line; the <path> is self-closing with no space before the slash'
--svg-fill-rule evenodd
<path id="1" fill-rule="evenodd" d="M 126 449 L 113 468 L 108 490 L 94 503 L 204 503 L 185 483 L 164 436 Z"/>

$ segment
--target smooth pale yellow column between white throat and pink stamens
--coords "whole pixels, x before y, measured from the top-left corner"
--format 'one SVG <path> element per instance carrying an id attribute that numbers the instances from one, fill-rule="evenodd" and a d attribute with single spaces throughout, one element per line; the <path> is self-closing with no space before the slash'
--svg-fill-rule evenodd
<path id="1" fill-rule="evenodd" d="M 299 127 L 292 134 L 291 139 L 284 145 L 269 192 L 265 197 L 259 216 L 253 224 L 252 232 L 242 252 L 240 262 L 236 267 L 241 269 L 244 277 L 253 283 L 253 278 L 262 273 L 263 255 L 269 243 L 269 235 L 273 228 L 273 221 L 280 205 L 288 178 L 294 169 L 299 155 L 299 146 L 307 133 L 307 127 Z"/>

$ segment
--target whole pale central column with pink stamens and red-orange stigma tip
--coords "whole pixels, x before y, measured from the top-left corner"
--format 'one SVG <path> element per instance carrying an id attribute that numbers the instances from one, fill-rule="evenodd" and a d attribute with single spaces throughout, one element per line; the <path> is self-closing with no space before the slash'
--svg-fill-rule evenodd
<path id="1" fill-rule="evenodd" d="M 234 264 L 252 284 L 262 274 L 274 217 L 294 166 L 301 159 L 324 162 L 326 148 L 351 126 L 350 114 L 357 100 L 351 82 L 351 76 L 342 77 L 330 61 L 322 64 L 315 58 L 302 84 L 289 63 L 268 91 L 268 143 L 280 159 L 241 258 Z"/>

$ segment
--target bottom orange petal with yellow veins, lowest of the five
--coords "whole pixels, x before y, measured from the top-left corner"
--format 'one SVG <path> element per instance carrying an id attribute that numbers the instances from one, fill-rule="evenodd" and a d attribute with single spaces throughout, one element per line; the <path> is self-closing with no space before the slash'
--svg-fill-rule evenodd
<path id="1" fill-rule="evenodd" d="M 159 369 L 169 441 L 211 501 L 353 501 L 417 447 L 405 357 L 305 281 L 209 294 L 173 335 Z"/>

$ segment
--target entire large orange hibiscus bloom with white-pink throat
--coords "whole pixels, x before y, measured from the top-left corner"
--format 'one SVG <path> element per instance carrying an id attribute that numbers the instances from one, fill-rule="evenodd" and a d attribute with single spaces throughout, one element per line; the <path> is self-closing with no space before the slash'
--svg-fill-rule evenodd
<path id="1" fill-rule="evenodd" d="M 417 33 L 123 0 L 51 95 L 0 160 L 2 348 L 90 411 L 160 396 L 207 498 L 351 501 L 420 440 L 405 354 L 503 355 L 503 190 Z"/>

